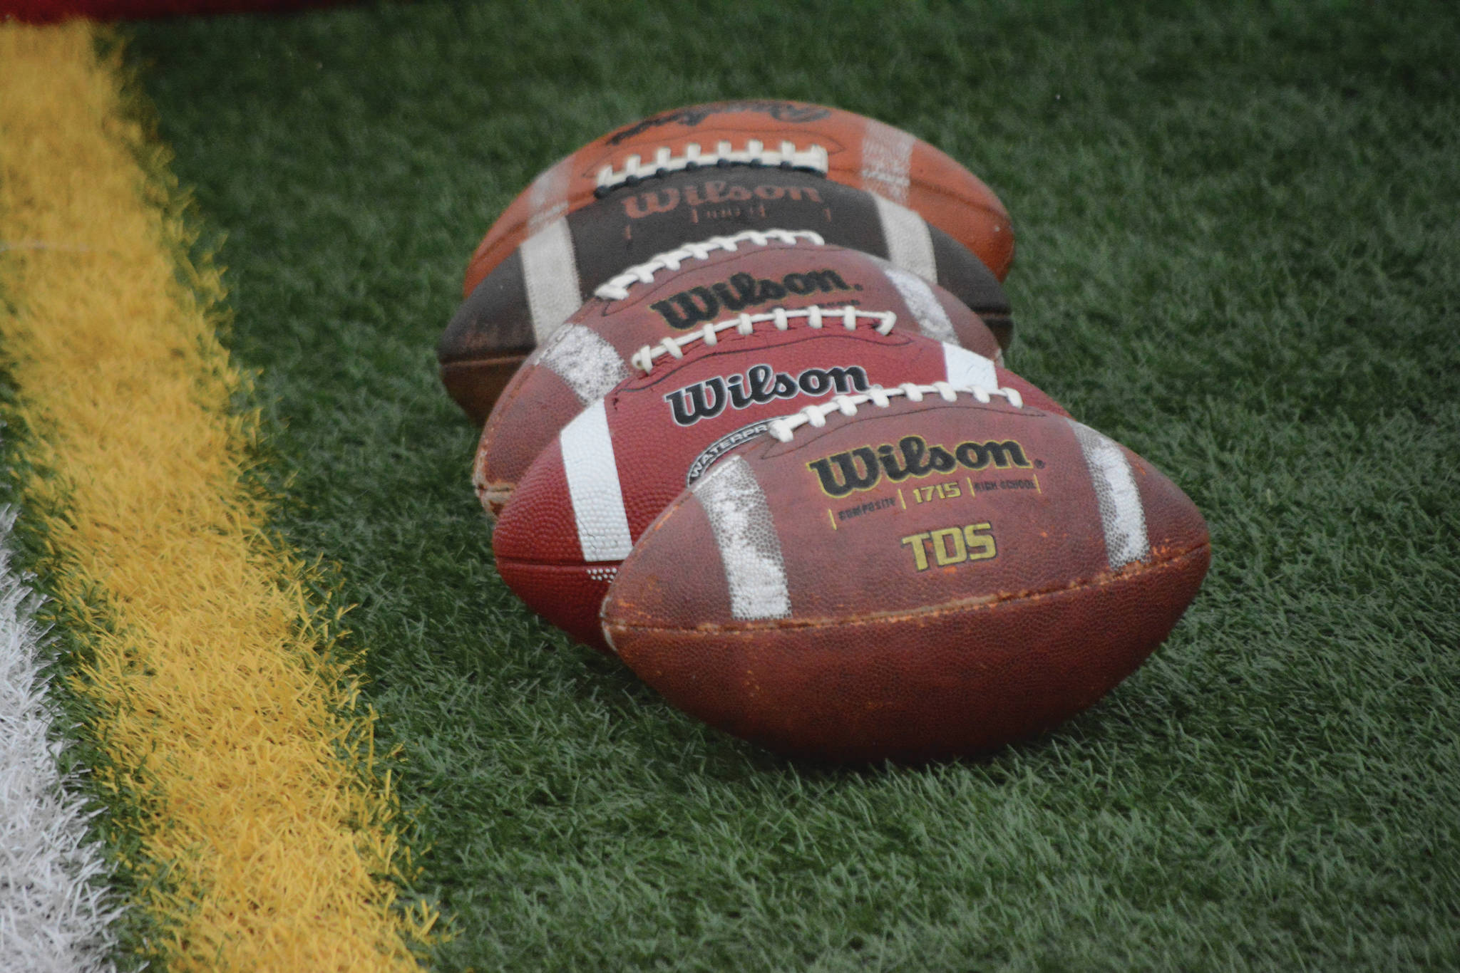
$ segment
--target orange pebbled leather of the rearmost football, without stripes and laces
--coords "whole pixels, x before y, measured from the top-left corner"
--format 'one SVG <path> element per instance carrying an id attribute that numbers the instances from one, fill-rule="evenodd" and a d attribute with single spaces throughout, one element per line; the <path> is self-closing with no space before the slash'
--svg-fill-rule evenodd
<path id="1" fill-rule="evenodd" d="M 739 108 L 733 102 L 715 102 L 660 112 L 616 128 L 564 159 L 559 165 L 565 166 L 566 191 L 561 201 L 568 213 L 591 204 L 599 169 L 604 165 L 622 169 L 629 155 L 651 159 L 660 146 L 682 155 L 691 142 L 707 150 L 720 140 L 742 147 L 748 139 L 759 139 L 768 146 L 778 146 L 783 140 L 799 147 L 821 144 L 828 150 L 831 179 L 858 190 L 888 191 L 888 185 L 877 179 L 863 178 L 866 169 L 877 168 L 876 160 L 863 156 L 867 121 L 848 111 L 788 101 L 740 102 Z M 911 140 L 905 178 L 907 195 L 899 201 L 975 252 L 1003 280 L 1013 263 L 1015 239 L 1009 213 L 993 190 L 950 156 L 918 139 Z M 508 204 L 477 245 L 467 264 L 463 296 L 470 295 L 523 242 L 531 216 L 531 188 L 527 188 Z"/>

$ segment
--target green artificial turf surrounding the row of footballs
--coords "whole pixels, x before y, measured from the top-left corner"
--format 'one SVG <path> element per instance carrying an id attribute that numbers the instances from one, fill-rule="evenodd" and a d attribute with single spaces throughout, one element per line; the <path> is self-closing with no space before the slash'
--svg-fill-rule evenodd
<path id="1" fill-rule="evenodd" d="M 415 3 L 134 28 L 226 232 L 280 515 L 359 602 L 442 970 L 1460 964 L 1460 16 Z M 1206 586 L 987 761 L 788 763 L 530 617 L 432 347 L 545 165 L 701 99 L 902 125 L 1015 217 L 1012 363 L 1184 486 Z"/>

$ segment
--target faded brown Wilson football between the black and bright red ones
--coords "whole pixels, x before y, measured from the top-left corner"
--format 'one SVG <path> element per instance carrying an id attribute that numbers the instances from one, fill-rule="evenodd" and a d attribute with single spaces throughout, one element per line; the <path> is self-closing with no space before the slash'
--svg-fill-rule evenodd
<path id="1" fill-rule="evenodd" d="M 482 429 L 472 483 L 491 513 L 568 422 L 635 371 L 645 344 L 769 306 L 892 311 L 927 334 L 1002 363 L 999 341 L 953 295 L 888 261 L 807 230 L 745 230 L 691 244 L 599 287 L 533 352 Z"/>

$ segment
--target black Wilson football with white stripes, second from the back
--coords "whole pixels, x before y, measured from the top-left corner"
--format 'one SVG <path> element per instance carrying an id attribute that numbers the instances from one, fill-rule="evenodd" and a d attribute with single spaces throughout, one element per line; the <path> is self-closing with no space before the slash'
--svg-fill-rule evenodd
<path id="1" fill-rule="evenodd" d="M 746 229 L 812 230 L 888 258 L 942 284 L 1007 347 L 1003 286 L 912 210 L 819 175 L 730 168 L 645 179 L 529 236 L 447 325 L 437 346 L 442 384 L 469 414 L 485 416 L 523 359 L 599 284 L 656 254 Z"/>

